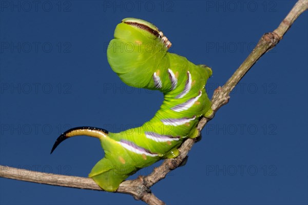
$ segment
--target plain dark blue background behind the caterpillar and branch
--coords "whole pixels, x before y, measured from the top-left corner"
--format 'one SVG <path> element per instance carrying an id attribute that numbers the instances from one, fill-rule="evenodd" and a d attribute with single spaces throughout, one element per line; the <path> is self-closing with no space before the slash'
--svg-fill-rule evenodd
<path id="1" fill-rule="evenodd" d="M 127 87 L 108 65 L 106 47 L 122 18 L 152 22 L 171 41 L 170 52 L 210 66 L 211 96 L 294 4 L 0 1 L 1 165 L 86 177 L 103 157 L 99 140 L 75 137 L 50 155 L 61 132 L 119 132 L 155 114 L 162 94 Z M 307 18 L 240 81 L 186 166 L 152 187 L 157 197 L 168 204 L 307 204 Z M 125 194 L 4 178 L 0 189 L 1 204 L 143 204 Z"/>

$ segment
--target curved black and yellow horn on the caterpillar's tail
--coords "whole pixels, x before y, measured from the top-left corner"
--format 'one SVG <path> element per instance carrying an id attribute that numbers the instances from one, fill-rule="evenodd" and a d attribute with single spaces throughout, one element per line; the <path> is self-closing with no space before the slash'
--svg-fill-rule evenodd
<path id="1" fill-rule="evenodd" d="M 90 137 L 96 137 L 101 139 L 102 137 L 106 137 L 108 134 L 107 130 L 101 128 L 94 128 L 94 127 L 76 127 L 67 130 L 66 132 L 62 133 L 54 142 L 54 145 L 51 149 L 50 154 L 55 150 L 57 146 L 61 144 L 65 139 L 69 137 L 78 136 L 78 135 L 87 135 Z"/>

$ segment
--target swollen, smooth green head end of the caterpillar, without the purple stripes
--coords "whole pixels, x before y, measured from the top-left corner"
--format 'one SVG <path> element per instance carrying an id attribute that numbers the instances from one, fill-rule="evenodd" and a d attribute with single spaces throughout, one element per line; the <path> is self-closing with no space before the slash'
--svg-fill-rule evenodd
<path id="1" fill-rule="evenodd" d="M 153 24 L 124 18 L 115 28 L 107 58 L 124 83 L 144 88 L 170 47 L 168 38 Z"/>

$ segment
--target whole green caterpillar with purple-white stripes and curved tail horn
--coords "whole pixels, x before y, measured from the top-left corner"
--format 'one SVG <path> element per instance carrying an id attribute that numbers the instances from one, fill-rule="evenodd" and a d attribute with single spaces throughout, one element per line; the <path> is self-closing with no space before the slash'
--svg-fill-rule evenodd
<path id="1" fill-rule="evenodd" d="M 167 52 L 170 46 L 156 26 L 141 19 L 123 19 L 107 48 L 108 62 L 125 84 L 163 92 L 161 108 L 143 126 L 120 133 L 93 127 L 70 129 L 57 138 L 51 153 L 72 136 L 99 138 L 105 157 L 89 177 L 110 192 L 139 169 L 177 157 L 184 139 L 198 135 L 199 118 L 213 113 L 205 91 L 212 71 Z"/>

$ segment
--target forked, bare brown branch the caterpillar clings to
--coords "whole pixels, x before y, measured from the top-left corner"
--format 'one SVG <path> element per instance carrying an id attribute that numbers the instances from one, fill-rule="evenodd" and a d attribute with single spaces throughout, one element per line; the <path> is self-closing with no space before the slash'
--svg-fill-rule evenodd
<path id="1" fill-rule="evenodd" d="M 214 113 L 208 119 L 203 117 L 199 121 L 197 127 L 199 135 L 207 121 L 214 117 L 219 108 L 228 103 L 230 92 L 239 83 L 240 79 L 246 74 L 246 72 L 252 68 L 252 66 L 264 53 L 271 50 L 279 43 L 283 35 L 291 27 L 297 17 L 307 9 L 308 1 L 299 0 L 292 8 L 290 13 L 288 13 L 287 16 L 282 20 L 277 29 L 275 29 L 273 32 L 265 33 L 261 37 L 255 49 L 251 52 L 251 54 L 248 55 L 248 57 L 235 71 L 235 73 L 227 80 L 225 85 L 215 90 L 211 99 L 211 108 L 214 110 Z M 185 140 L 182 146 L 179 148 L 180 155 L 177 158 L 164 160 L 161 166 L 155 168 L 153 172 L 147 176 L 139 176 L 134 180 L 123 181 L 117 192 L 130 194 L 136 200 L 142 200 L 148 204 L 164 204 L 163 201 L 151 193 L 149 188 L 161 179 L 165 178 L 165 176 L 171 170 L 179 167 L 186 158 L 189 150 L 192 148 L 192 146 L 194 146 L 195 142 L 196 139 Z M 31 181 L 36 183 L 45 183 L 47 185 L 54 186 L 104 191 L 90 178 L 35 172 L 7 166 L 0 166 L 0 177 Z"/>

